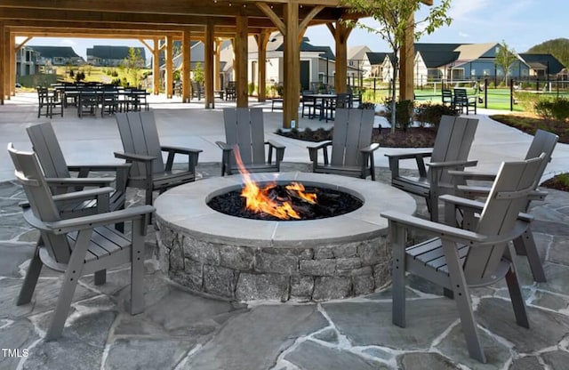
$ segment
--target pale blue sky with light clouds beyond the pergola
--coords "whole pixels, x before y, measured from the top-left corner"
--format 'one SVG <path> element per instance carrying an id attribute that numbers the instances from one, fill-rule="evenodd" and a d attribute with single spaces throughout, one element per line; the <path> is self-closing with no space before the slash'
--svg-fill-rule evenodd
<path id="1" fill-rule="evenodd" d="M 434 3 L 440 4 L 440 0 Z M 421 20 L 429 7 L 423 6 L 415 20 Z M 481 44 L 505 41 L 510 49 L 526 52 L 533 45 L 555 38 L 569 38 L 569 1 L 567 0 L 452 0 L 449 16 L 451 26 L 438 28 L 433 34 L 422 36 L 421 43 Z M 375 27 L 372 19 L 365 23 Z M 310 44 L 334 48 L 333 36 L 325 26 L 308 28 L 305 36 Z M 143 46 L 138 40 L 51 38 L 36 37 L 28 45 L 71 46 L 86 58 L 87 48 L 94 44 Z M 348 46 L 367 45 L 373 52 L 389 52 L 389 45 L 381 36 L 363 29 L 354 29 Z M 149 52 L 147 50 L 147 58 Z"/>

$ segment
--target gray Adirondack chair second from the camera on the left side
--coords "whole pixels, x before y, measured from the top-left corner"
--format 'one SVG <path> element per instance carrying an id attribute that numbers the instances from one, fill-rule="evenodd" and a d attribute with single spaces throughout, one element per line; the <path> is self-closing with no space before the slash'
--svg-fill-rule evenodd
<path id="1" fill-rule="evenodd" d="M 53 194 L 58 195 L 69 191 L 82 190 L 84 187 L 110 186 L 111 183 L 115 182 L 115 190 L 109 195 L 108 209 L 116 211 L 124 208 L 126 180 L 131 165 L 68 165 L 51 123 L 30 125 L 26 131 Z M 88 177 L 91 172 L 97 171 L 113 172 L 116 173 L 116 177 Z M 77 173 L 78 177 L 73 177 L 72 172 Z M 60 212 L 64 218 L 98 213 L 94 201 L 67 202 L 65 205 L 60 205 Z"/>

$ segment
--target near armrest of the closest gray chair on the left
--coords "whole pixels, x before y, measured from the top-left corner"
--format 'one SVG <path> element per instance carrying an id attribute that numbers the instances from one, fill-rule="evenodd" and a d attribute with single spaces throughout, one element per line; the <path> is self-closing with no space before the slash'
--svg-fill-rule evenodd
<path id="1" fill-rule="evenodd" d="M 76 217 L 74 219 L 53 221 L 53 222 L 43 222 L 36 218 L 36 216 L 31 213 L 25 214 L 26 221 L 28 221 L 33 226 L 38 229 L 43 229 L 46 231 L 51 231 L 54 234 L 66 234 L 70 231 L 82 230 L 82 229 L 94 229 L 100 226 L 112 225 L 115 223 L 120 223 L 124 221 L 135 221 L 142 218 L 144 215 L 153 213 L 156 210 L 152 205 L 139 205 L 135 207 L 129 207 L 119 211 L 113 211 L 108 213 L 98 213 L 92 214 L 84 217 Z M 34 220 L 36 219 L 36 220 Z M 32 223 L 34 222 L 34 223 Z"/>

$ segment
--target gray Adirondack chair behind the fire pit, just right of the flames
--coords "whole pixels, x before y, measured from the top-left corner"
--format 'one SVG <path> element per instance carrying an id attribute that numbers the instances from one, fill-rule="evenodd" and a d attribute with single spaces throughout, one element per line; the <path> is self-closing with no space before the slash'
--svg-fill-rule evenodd
<path id="1" fill-rule="evenodd" d="M 373 109 L 336 109 L 332 141 L 310 145 L 312 172 L 335 173 L 375 181 L 373 152 L 380 144 L 372 143 Z M 329 157 L 329 149 L 332 156 Z M 319 161 L 321 151 L 323 162 Z"/>

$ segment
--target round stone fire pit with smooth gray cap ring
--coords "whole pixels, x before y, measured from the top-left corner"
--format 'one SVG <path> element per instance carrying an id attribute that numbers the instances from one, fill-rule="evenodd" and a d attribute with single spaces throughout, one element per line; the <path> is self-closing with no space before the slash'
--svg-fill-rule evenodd
<path id="1" fill-rule="evenodd" d="M 275 173 L 252 175 L 271 181 Z M 240 301 L 323 301 L 372 293 L 390 278 L 388 209 L 412 214 L 415 201 L 377 181 L 319 173 L 278 173 L 277 182 L 338 189 L 364 201 L 354 212 L 311 221 L 260 221 L 212 210 L 212 197 L 240 189 L 216 177 L 157 197 L 164 273 L 183 286 Z"/>

